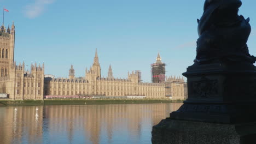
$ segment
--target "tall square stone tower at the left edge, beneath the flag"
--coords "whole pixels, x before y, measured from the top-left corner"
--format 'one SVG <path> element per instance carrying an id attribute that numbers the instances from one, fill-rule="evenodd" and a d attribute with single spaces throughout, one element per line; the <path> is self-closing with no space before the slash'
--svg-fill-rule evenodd
<path id="1" fill-rule="evenodd" d="M 8 76 L 11 64 L 14 62 L 14 41 L 15 26 L 14 23 L 6 29 L 1 26 L 0 31 L 0 76 Z"/>

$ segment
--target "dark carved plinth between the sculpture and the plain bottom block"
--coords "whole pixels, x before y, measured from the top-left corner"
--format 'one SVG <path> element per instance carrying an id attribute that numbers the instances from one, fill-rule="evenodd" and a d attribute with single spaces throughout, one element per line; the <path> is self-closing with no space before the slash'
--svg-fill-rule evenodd
<path id="1" fill-rule="evenodd" d="M 256 122 L 256 70 L 245 63 L 192 65 L 189 97 L 170 118 L 200 122 Z"/>

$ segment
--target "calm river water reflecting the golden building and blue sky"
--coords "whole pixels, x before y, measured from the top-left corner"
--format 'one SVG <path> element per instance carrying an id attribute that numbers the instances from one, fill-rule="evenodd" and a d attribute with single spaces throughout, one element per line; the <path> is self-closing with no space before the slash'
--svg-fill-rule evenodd
<path id="1" fill-rule="evenodd" d="M 172 104 L 0 107 L 0 143 L 151 143 Z"/>

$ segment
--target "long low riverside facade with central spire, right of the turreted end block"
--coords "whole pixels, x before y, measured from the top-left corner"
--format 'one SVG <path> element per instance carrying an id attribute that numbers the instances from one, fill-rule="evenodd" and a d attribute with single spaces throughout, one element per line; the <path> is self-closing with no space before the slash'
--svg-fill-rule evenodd
<path id="1" fill-rule="evenodd" d="M 73 69 L 73 66 L 71 66 Z M 101 77 L 101 67 L 98 62 L 97 50 L 92 67 L 85 70 L 85 78 L 45 77 L 44 95 L 80 95 L 80 96 L 127 96 L 138 95 L 146 98 L 184 99 L 183 79 L 169 77 L 162 83 L 144 83 L 140 80 L 140 73 L 132 71 L 127 79 L 115 79 L 109 66 L 108 77 Z M 69 76 L 70 78 L 70 76 Z M 167 87 L 168 85 L 168 87 Z"/>

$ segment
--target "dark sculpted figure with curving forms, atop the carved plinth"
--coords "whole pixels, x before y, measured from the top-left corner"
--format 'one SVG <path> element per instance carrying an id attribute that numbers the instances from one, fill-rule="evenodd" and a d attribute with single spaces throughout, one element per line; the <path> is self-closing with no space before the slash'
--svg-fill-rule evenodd
<path id="1" fill-rule="evenodd" d="M 221 61 L 255 62 L 249 55 L 247 40 L 251 33 L 249 18 L 237 15 L 240 0 L 206 0 L 198 22 L 195 63 Z"/>

